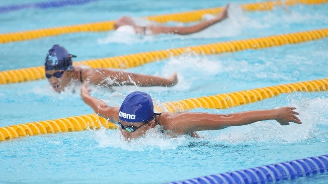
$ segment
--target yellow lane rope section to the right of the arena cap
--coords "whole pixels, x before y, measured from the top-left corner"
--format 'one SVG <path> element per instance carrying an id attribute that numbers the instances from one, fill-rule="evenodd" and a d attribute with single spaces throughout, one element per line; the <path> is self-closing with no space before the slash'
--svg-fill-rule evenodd
<path id="1" fill-rule="evenodd" d="M 231 92 L 188 98 L 178 101 L 170 101 L 157 106 L 159 112 L 180 112 L 195 108 L 217 108 L 224 109 L 247 103 L 253 103 L 266 98 L 277 96 L 282 93 L 291 92 L 320 92 L 328 90 L 328 78 L 314 81 L 291 83 L 240 92 Z"/>

